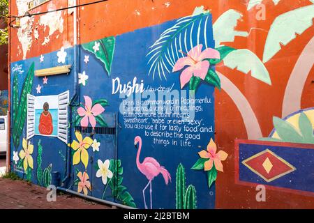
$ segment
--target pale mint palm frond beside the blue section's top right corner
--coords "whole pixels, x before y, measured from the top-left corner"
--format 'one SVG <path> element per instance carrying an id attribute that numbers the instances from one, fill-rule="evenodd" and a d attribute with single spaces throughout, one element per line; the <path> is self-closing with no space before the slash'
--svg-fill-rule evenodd
<path id="1" fill-rule="evenodd" d="M 234 30 L 243 15 L 236 10 L 230 9 L 220 15 L 213 25 L 215 47 L 221 43 L 234 42 L 236 36 L 247 37 L 248 32 Z"/>

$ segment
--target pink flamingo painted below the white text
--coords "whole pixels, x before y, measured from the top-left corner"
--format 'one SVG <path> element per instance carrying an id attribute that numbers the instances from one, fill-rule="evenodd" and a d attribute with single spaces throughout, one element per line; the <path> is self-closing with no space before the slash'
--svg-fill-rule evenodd
<path id="1" fill-rule="evenodd" d="M 148 186 L 150 186 L 149 193 L 150 193 L 150 199 L 151 199 L 151 193 L 153 192 L 153 190 L 151 189 L 151 181 L 154 180 L 156 176 L 161 174 L 163 178 L 165 179 L 165 184 L 168 185 L 168 182 L 169 181 L 171 182 L 171 176 L 169 172 L 167 171 L 167 169 L 165 169 L 165 167 L 160 166 L 159 162 L 157 162 L 157 160 L 155 160 L 153 157 L 145 157 L 144 161 L 141 163 L 140 153 L 142 149 L 142 139 L 139 136 L 135 137 L 134 139 L 135 147 L 137 147 L 137 144 L 138 144 L 138 150 L 137 150 L 137 155 L 136 155 L 136 165 L 137 165 L 137 168 L 140 170 L 140 172 L 146 176 L 147 180 L 149 180 L 149 183 L 147 183 L 146 187 L 144 187 L 144 190 L 143 190 L 144 205 L 145 205 L 145 209 L 147 209 L 147 204 L 145 201 L 145 190 L 147 189 Z M 153 204 L 151 201 L 151 209 L 152 208 L 153 208 Z"/>

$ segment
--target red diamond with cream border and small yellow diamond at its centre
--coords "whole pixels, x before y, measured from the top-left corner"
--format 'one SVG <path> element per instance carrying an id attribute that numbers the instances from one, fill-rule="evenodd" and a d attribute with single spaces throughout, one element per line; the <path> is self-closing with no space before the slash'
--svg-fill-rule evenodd
<path id="1" fill-rule="evenodd" d="M 281 178 L 296 170 L 292 164 L 269 149 L 249 157 L 242 161 L 242 164 L 267 182 Z"/>

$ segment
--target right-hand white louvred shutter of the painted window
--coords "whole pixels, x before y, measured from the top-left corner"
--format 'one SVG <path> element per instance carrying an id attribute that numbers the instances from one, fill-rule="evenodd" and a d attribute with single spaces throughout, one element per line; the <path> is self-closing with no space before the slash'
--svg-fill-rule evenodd
<path id="1" fill-rule="evenodd" d="M 70 98 L 69 91 L 58 95 L 58 138 L 68 143 L 68 102 Z"/>

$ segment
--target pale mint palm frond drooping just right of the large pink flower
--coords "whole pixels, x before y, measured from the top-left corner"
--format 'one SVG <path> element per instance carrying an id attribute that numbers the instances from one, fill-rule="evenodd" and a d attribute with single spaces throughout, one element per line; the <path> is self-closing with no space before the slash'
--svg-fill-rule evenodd
<path id="1" fill-rule="evenodd" d="M 252 77 L 271 85 L 269 72 L 264 66 L 264 63 L 249 49 L 237 49 L 230 52 L 230 54 L 223 59 L 223 63 L 228 68 L 237 68 L 237 70 L 245 74 L 251 71 Z"/>

